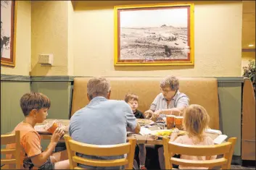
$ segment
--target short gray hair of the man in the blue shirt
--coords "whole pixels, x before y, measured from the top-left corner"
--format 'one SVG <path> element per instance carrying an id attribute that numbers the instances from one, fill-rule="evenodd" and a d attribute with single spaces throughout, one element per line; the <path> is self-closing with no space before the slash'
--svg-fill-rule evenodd
<path id="1" fill-rule="evenodd" d="M 110 82 L 104 77 L 93 77 L 87 83 L 87 93 L 92 99 L 93 95 L 107 97 L 110 92 Z"/>

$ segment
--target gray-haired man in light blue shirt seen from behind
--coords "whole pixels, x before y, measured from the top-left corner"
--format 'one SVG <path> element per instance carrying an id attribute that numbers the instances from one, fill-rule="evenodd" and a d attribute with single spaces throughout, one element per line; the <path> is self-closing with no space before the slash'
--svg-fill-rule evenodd
<path id="1" fill-rule="evenodd" d="M 93 145 L 115 145 L 126 143 L 126 127 L 139 133 L 141 127 L 133 111 L 125 101 L 110 99 L 110 82 L 104 77 L 88 81 L 87 97 L 90 103 L 76 111 L 70 119 L 70 136 L 80 143 Z M 124 156 L 86 156 L 83 158 L 110 160 Z M 79 165 L 86 169 L 120 169 L 117 167 L 93 167 Z"/>

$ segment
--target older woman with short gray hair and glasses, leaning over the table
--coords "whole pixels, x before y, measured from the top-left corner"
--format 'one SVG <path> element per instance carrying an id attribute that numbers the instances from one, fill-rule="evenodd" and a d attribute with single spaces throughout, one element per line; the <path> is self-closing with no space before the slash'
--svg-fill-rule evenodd
<path id="1" fill-rule="evenodd" d="M 175 76 L 167 76 L 160 82 L 161 93 L 154 98 L 146 118 L 156 119 L 166 114 L 182 115 L 183 109 L 189 106 L 189 97 L 179 90 L 179 81 Z"/>

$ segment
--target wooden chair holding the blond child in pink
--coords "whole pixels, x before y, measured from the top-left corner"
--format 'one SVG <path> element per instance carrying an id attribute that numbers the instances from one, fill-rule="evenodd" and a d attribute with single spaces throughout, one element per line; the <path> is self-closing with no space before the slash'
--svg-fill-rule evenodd
<path id="1" fill-rule="evenodd" d="M 221 169 L 230 169 L 232 156 L 234 153 L 234 145 L 236 137 L 231 137 L 228 142 L 219 145 L 184 145 L 179 143 L 169 143 L 168 138 L 163 138 L 165 169 L 173 169 L 173 164 L 182 166 L 194 167 L 209 167 L 212 169 L 215 166 L 221 166 Z M 175 154 L 186 156 L 215 156 L 223 155 L 222 158 L 213 160 L 195 161 L 182 158 L 173 158 Z"/>

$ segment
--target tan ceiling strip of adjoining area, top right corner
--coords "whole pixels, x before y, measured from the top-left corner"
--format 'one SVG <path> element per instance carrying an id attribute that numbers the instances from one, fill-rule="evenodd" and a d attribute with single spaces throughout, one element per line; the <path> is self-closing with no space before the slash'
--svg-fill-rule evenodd
<path id="1" fill-rule="evenodd" d="M 242 49 L 255 50 L 255 1 L 243 1 Z M 253 46 L 249 47 L 252 44 Z"/>

